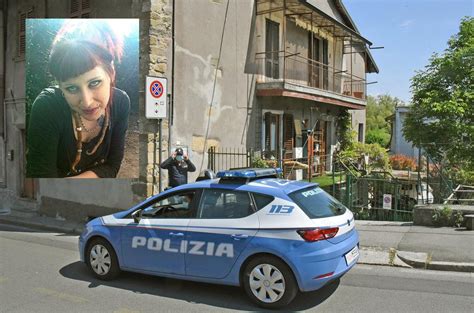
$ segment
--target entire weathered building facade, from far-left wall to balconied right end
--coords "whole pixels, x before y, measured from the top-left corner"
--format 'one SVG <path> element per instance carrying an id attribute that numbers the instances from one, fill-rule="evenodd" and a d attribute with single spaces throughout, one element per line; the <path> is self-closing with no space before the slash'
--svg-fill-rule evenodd
<path id="1" fill-rule="evenodd" d="M 190 180 L 208 167 L 210 147 L 252 149 L 283 164 L 305 157 L 308 137 L 314 170 L 330 170 L 338 117 L 346 111 L 363 140 L 366 74 L 378 68 L 340 0 L 0 3 L 3 208 L 79 220 L 127 208 L 166 186 L 158 165 L 178 146 L 197 167 Z M 140 19 L 137 179 L 24 177 L 24 20 L 55 17 Z M 144 117 L 147 75 L 168 79 L 161 123 Z"/>

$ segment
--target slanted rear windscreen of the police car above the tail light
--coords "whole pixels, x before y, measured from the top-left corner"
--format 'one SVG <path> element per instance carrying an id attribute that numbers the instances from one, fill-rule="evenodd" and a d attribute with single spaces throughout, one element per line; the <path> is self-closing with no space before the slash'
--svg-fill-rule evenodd
<path id="1" fill-rule="evenodd" d="M 309 187 L 289 194 L 289 197 L 309 216 L 323 218 L 342 215 L 346 207 L 319 187 Z"/>

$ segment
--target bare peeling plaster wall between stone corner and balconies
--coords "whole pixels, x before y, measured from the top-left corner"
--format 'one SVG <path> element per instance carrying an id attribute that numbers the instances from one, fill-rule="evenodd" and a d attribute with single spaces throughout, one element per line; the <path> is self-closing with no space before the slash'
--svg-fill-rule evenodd
<path id="1" fill-rule="evenodd" d="M 254 1 L 178 1 L 175 17 L 175 115 L 170 145 L 189 147 L 197 167 L 189 176 L 194 180 L 199 170 L 207 168 L 210 146 L 252 145 L 253 134 L 247 137 L 253 127 L 254 84 L 245 66 Z"/>

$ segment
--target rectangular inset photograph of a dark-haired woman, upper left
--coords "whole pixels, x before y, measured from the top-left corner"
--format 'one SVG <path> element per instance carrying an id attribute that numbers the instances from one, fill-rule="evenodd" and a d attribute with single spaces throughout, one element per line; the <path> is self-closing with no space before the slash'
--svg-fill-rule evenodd
<path id="1" fill-rule="evenodd" d="M 28 19 L 26 176 L 138 177 L 138 20 Z"/>

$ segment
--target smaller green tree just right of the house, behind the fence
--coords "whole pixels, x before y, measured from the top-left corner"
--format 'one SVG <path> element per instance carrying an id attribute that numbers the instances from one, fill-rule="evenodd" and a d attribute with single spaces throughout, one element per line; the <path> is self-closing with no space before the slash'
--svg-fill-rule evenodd
<path id="1" fill-rule="evenodd" d="M 390 141 L 390 122 L 387 117 L 393 115 L 395 107 L 404 105 L 403 101 L 390 95 L 367 97 L 367 134 L 365 142 L 378 143 L 386 147 Z"/>

